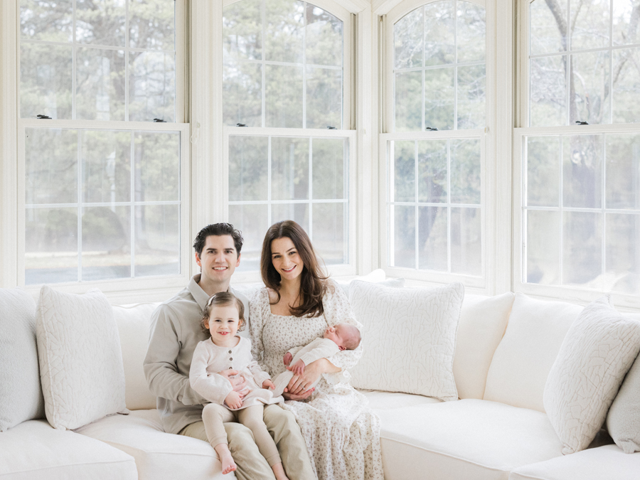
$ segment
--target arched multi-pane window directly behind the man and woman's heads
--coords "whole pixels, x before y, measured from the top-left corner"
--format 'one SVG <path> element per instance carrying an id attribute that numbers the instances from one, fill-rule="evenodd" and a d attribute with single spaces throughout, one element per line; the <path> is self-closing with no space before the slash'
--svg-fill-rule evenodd
<path id="1" fill-rule="evenodd" d="M 279 220 L 302 225 L 327 264 L 350 262 L 350 59 L 351 14 L 335 4 L 225 6 L 228 220 L 245 236 L 240 270 L 259 270 Z"/>

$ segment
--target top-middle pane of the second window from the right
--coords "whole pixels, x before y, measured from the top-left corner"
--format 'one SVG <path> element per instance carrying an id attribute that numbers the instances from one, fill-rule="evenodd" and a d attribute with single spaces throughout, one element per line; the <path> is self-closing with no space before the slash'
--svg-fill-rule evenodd
<path id="1" fill-rule="evenodd" d="M 425 5 L 424 10 L 425 66 L 454 63 L 456 53 L 454 2 L 448 0 L 436 1 Z M 410 41 L 405 48 L 412 48 L 412 46 L 417 45 L 419 45 L 418 42 L 413 43 Z"/>

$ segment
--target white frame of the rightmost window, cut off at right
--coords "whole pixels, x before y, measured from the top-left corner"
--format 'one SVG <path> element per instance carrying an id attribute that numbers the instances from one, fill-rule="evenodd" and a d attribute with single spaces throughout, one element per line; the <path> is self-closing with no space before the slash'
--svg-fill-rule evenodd
<path id="1" fill-rule="evenodd" d="M 564 299 L 578 303 L 592 302 L 603 292 L 569 287 L 566 285 L 541 285 L 523 282 L 526 262 L 526 225 L 524 207 L 526 194 L 526 172 L 523 171 L 524 141 L 526 137 L 558 136 L 558 134 L 640 134 L 640 123 L 636 124 L 590 124 L 567 125 L 562 127 L 528 127 L 529 119 L 529 4 L 532 0 L 518 2 L 518 121 L 520 127 L 513 132 L 513 292 L 548 299 Z M 602 210 L 602 209 L 601 209 Z M 604 242 L 604 239 L 603 239 Z M 623 308 L 639 308 L 640 297 L 631 294 L 611 292 L 612 302 Z"/>

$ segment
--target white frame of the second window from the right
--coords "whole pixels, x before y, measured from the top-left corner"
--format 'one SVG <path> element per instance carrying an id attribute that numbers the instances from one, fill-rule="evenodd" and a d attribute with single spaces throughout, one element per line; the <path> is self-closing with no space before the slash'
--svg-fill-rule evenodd
<path id="1" fill-rule="evenodd" d="M 378 146 L 380 181 L 379 188 L 379 212 L 380 212 L 380 260 L 381 267 L 386 274 L 391 277 L 405 277 L 407 279 L 420 280 L 429 284 L 442 284 L 448 282 L 463 282 L 472 292 L 492 294 L 508 290 L 510 278 L 504 274 L 498 274 L 503 265 L 508 252 L 498 250 L 499 229 L 494 228 L 498 218 L 508 218 L 510 215 L 509 206 L 503 202 L 504 190 L 508 191 L 508 186 L 500 187 L 498 191 L 498 162 L 494 161 L 497 153 L 496 144 L 496 116 L 498 109 L 503 108 L 503 102 L 498 100 L 496 95 L 496 73 L 497 68 L 497 27 L 496 1 L 492 0 L 468 0 L 471 3 L 479 4 L 486 8 L 486 127 L 484 129 L 466 130 L 442 130 L 438 132 L 402 132 L 389 133 L 388 129 L 394 123 L 394 98 L 393 98 L 393 26 L 403 16 L 417 9 L 418 7 L 432 3 L 437 0 L 405 0 L 393 2 L 386 5 L 385 18 L 383 20 L 383 41 L 380 42 L 380 49 L 384 53 L 383 59 L 383 114 L 382 133 Z M 499 0 L 498 0 L 499 1 Z M 502 7 L 500 7 L 502 8 Z M 381 10 L 380 13 L 383 13 Z M 505 23 L 501 20 L 501 25 Z M 509 112 L 501 112 L 503 122 L 508 122 L 511 118 Z M 509 130 L 511 125 L 509 124 Z M 450 272 L 437 272 L 434 270 L 417 270 L 403 267 L 392 267 L 390 265 L 390 216 L 388 202 L 390 201 L 390 171 L 388 171 L 388 145 L 393 140 L 436 140 L 436 139 L 464 139 L 479 138 L 481 140 L 481 277 L 472 277 L 464 274 L 454 274 Z M 511 139 L 509 139 L 511 141 Z M 504 142 L 504 139 L 503 139 Z M 511 146 L 509 144 L 509 146 Z M 510 173 L 510 169 L 508 170 Z M 498 205 L 498 197 L 501 204 Z M 502 257 L 498 260 L 498 257 Z M 499 262 L 499 263 L 498 263 Z"/>

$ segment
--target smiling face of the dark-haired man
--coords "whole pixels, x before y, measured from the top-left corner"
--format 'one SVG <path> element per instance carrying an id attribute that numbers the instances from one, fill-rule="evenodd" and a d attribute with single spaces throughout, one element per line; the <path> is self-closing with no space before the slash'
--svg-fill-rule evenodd
<path id="1" fill-rule="evenodd" d="M 200 266 L 202 279 L 210 282 L 225 282 L 231 278 L 235 267 L 240 265 L 240 255 L 235 250 L 231 235 L 209 235 L 201 255 L 196 252 L 196 263 Z"/>

